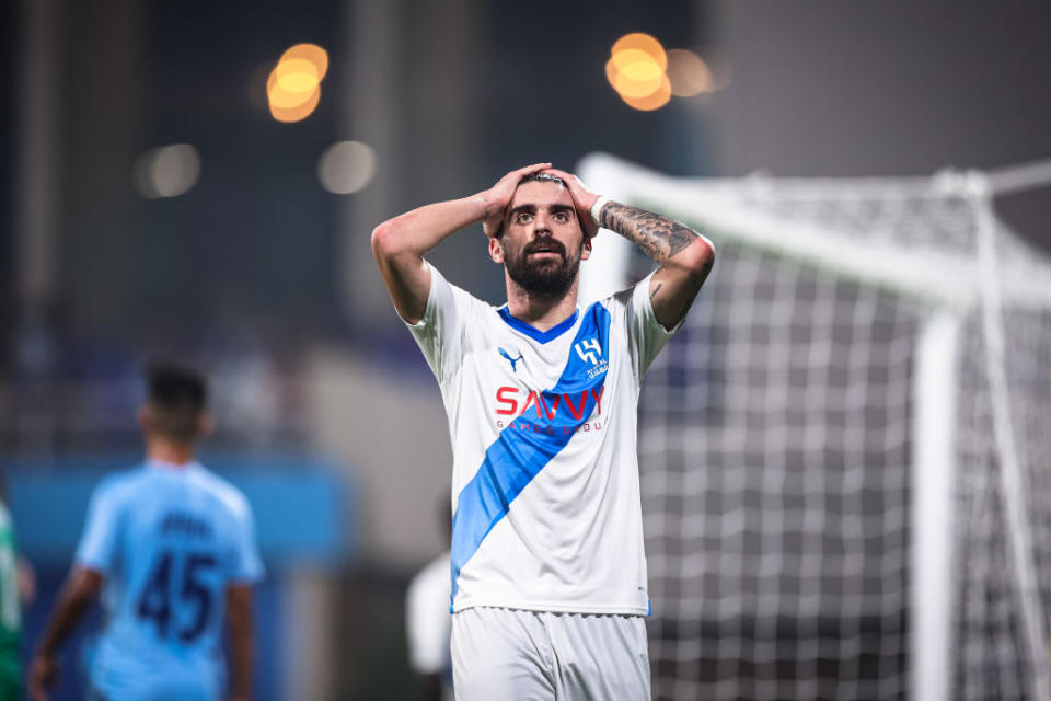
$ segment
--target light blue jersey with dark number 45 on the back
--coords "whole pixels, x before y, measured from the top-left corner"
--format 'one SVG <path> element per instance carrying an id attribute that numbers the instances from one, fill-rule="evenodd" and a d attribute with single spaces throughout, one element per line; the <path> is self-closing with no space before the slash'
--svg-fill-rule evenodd
<path id="1" fill-rule="evenodd" d="M 227 587 L 263 576 L 236 487 L 198 463 L 112 475 L 92 496 L 77 564 L 105 578 L 96 691 L 114 701 L 222 697 Z"/>

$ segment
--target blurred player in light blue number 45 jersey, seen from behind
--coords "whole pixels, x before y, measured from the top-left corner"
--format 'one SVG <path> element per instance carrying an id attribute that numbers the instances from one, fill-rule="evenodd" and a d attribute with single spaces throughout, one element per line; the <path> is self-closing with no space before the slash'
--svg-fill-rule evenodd
<path id="1" fill-rule="evenodd" d="M 100 591 L 106 623 L 89 698 L 223 698 L 224 619 L 230 696 L 250 697 L 252 586 L 263 575 L 252 513 L 240 491 L 194 459 L 194 444 L 211 428 L 201 377 L 157 364 L 147 379 L 138 413 L 146 462 L 108 476 L 92 496 L 72 571 L 30 668 L 36 700 L 47 698 L 57 651 Z"/>

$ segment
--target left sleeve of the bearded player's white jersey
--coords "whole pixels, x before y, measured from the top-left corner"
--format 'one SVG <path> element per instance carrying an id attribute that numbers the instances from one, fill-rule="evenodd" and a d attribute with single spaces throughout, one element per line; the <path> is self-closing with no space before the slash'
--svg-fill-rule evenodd
<path id="1" fill-rule="evenodd" d="M 423 350 L 427 365 L 439 382 L 444 382 L 460 365 L 462 355 L 464 297 L 466 292 L 450 285 L 438 269 L 430 267 L 430 292 L 424 317 L 415 324 L 405 322 Z"/>

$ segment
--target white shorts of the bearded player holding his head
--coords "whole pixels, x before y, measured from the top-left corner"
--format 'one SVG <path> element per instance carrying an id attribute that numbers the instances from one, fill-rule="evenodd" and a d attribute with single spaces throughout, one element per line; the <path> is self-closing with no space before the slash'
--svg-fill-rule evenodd
<path id="1" fill-rule="evenodd" d="M 649 701 L 640 616 L 476 607 L 452 616 L 458 701 Z"/>

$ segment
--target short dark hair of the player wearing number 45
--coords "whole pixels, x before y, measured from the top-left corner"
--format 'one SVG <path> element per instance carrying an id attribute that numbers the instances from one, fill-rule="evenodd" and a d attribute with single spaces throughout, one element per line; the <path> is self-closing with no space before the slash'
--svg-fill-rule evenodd
<path id="1" fill-rule="evenodd" d="M 184 365 L 160 360 L 147 365 L 146 382 L 153 410 L 150 427 L 173 440 L 196 439 L 208 401 L 205 378 Z"/>

